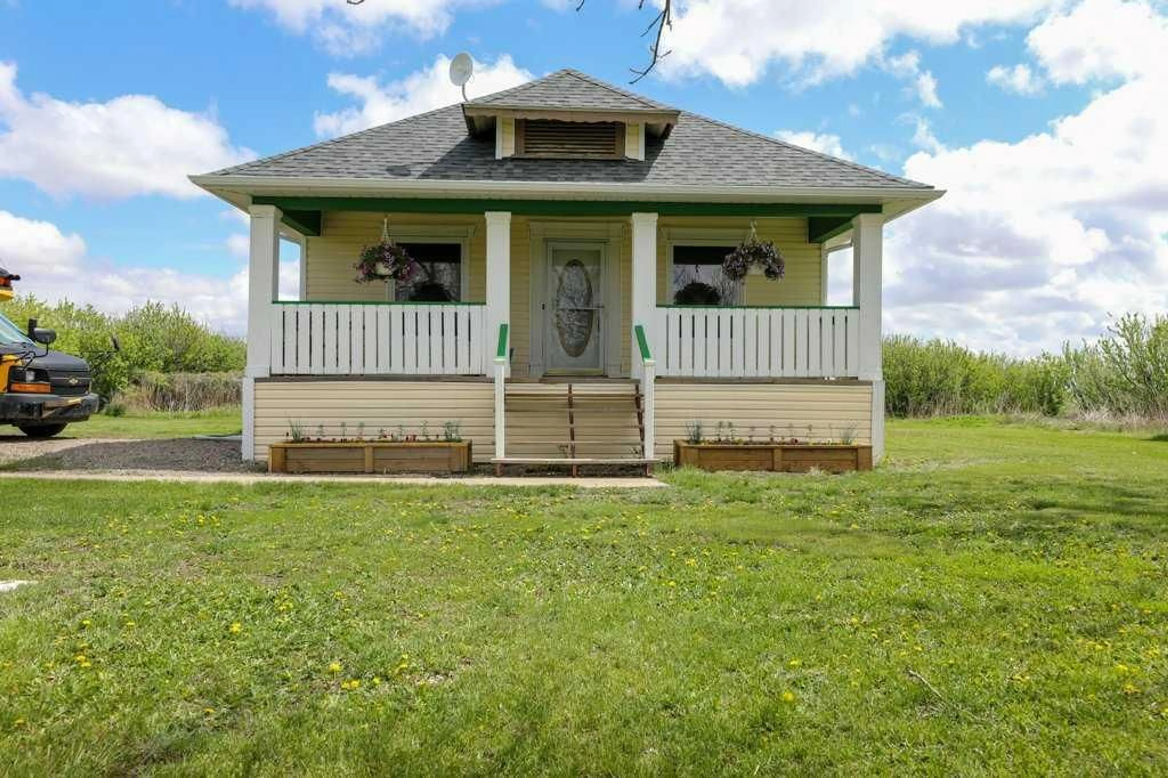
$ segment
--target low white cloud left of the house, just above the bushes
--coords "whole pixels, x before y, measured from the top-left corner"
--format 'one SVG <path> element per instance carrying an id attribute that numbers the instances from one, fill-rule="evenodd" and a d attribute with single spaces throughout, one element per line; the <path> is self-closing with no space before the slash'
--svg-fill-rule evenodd
<path id="1" fill-rule="evenodd" d="M 77 234 L 0 210 L 0 257 L 20 273 L 19 293 L 50 301 L 92 304 L 123 313 L 147 301 L 178 304 L 214 329 L 241 335 L 248 324 L 248 269 L 230 278 L 167 268 L 126 268 L 93 257 Z M 294 298 L 296 262 L 280 262 L 280 296 Z"/>

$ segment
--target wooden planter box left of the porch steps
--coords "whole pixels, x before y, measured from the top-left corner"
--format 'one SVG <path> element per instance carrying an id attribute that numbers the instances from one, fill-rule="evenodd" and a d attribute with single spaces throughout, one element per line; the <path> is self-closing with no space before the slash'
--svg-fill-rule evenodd
<path id="1" fill-rule="evenodd" d="M 471 442 L 346 440 L 343 443 L 273 443 L 270 473 L 465 473 Z"/>

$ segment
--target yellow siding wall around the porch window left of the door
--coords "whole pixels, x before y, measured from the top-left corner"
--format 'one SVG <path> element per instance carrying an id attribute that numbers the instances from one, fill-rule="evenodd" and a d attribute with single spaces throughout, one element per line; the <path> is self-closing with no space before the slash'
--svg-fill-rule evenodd
<path id="1" fill-rule="evenodd" d="M 384 284 L 359 284 L 354 280 L 354 263 L 361 249 L 381 239 L 382 220 L 389 216 L 390 235 L 395 230 L 413 231 L 433 228 L 474 229 L 470 238 L 470 301 L 482 301 L 486 293 L 486 218 L 482 216 L 442 214 L 370 214 L 325 211 L 320 237 L 310 237 L 305 249 L 305 299 L 307 300 L 384 300 Z M 409 241 L 404 237 L 395 238 Z M 453 239 L 453 238 L 451 238 Z"/>

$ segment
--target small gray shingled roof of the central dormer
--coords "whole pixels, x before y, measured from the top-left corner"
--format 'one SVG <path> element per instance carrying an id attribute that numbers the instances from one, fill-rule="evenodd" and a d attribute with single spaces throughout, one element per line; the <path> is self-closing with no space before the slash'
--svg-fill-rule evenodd
<path id="1" fill-rule="evenodd" d="M 675 111 L 647 97 L 626 92 L 578 70 L 565 68 L 512 89 L 470 100 L 467 105 L 593 111 Z"/>

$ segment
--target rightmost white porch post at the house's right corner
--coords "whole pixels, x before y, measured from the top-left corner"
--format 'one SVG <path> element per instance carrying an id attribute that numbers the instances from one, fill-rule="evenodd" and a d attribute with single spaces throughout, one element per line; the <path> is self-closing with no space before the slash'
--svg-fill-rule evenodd
<path id="1" fill-rule="evenodd" d="M 884 216 L 860 214 L 853 222 L 851 294 L 860 308 L 861 381 L 872 385 L 872 458 L 884 457 L 884 368 L 881 331 L 881 265 L 884 255 Z"/>

